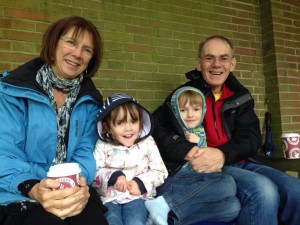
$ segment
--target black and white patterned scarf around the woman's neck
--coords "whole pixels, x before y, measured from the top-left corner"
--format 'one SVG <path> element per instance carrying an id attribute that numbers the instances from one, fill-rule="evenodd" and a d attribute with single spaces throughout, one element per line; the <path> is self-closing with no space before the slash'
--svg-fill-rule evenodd
<path id="1" fill-rule="evenodd" d="M 69 126 L 71 111 L 79 93 L 82 80 L 83 74 L 80 74 L 73 80 L 61 79 L 52 72 L 52 69 L 48 64 L 44 64 L 37 72 L 36 81 L 48 94 L 53 110 L 56 112 L 57 144 L 56 156 L 52 162 L 53 165 L 63 163 L 66 160 L 67 146 L 65 143 L 65 135 Z M 68 96 L 61 108 L 58 108 L 56 105 L 52 88 L 68 92 Z"/>

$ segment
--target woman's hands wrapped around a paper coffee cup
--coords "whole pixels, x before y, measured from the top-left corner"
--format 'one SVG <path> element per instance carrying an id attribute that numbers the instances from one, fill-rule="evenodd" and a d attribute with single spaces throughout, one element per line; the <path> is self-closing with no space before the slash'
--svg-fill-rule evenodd
<path id="1" fill-rule="evenodd" d="M 85 178 L 80 178 L 79 187 L 54 190 L 59 185 L 59 181 L 43 179 L 33 186 L 28 196 L 38 201 L 46 211 L 62 219 L 81 213 L 89 199 Z"/>

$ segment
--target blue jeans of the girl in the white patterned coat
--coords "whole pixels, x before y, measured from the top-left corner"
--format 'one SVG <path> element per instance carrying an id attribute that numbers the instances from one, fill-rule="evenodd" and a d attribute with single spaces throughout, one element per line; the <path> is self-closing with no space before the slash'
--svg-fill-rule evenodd
<path id="1" fill-rule="evenodd" d="M 125 204 L 105 204 L 108 212 L 105 217 L 109 225 L 145 225 L 148 211 L 145 207 L 145 200 L 136 199 Z"/>

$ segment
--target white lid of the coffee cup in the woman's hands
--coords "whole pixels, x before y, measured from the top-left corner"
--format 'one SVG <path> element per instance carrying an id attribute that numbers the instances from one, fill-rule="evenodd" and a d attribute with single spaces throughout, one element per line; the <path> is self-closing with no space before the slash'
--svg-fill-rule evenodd
<path id="1" fill-rule="evenodd" d="M 78 174 L 81 172 L 78 163 L 62 163 L 51 166 L 47 173 L 48 177 L 63 177 L 73 174 Z"/>

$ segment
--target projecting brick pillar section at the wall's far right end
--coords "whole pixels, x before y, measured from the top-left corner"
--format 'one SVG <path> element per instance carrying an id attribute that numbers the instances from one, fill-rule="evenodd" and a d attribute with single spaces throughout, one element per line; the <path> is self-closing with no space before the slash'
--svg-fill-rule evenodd
<path id="1" fill-rule="evenodd" d="M 261 1 L 267 108 L 280 150 L 282 132 L 300 132 L 300 1 Z"/>

